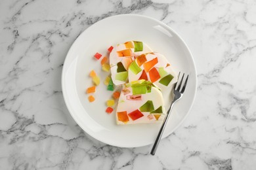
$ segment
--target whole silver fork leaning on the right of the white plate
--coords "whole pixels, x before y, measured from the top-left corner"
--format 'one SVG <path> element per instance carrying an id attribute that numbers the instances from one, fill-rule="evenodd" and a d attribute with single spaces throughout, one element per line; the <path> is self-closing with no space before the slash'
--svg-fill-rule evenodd
<path id="1" fill-rule="evenodd" d="M 179 73 L 179 76 L 181 75 L 181 72 Z M 168 111 L 167 111 L 167 115 L 165 116 L 164 120 L 163 120 L 163 124 L 161 125 L 161 128 L 160 128 L 160 131 L 158 133 L 158 137 L 156 137 L 156 141 L 152 147 L 152 150 L 150 152 L 150 154 L 154 155 L 156 153 L 156 149 L 158 148 L 158 144 L 160 143 L 160 140 L 161 140 L 161 135 L 163 135 L 163 130 L 165 129 L 165 126 L 167 124 L 167 120 L 171 114 L 171 110 L 173 109 L 173 105 L 176 101 L 178 101 L 179 99 L 181 99 L 184 91 L 185 91 L 185 88 L 186 88 L 186 83 L 188 82 L 188 75 L 186 76 L 186 80 L 184 82 L 184 85 L 182 86 L 182 81 L 183 81 L 183 78 L 184 78 L 184 73 L 182 75 L 182 78 L 181 78 L 181 82 L 179 83 L 179 86 L 178 88 L 176 89 L 176 86 L 177 86 L 177 83 L 179 82 L 179 76 L 178 76 L 178 80 L 177 82 L 174 84 L 174 87 L 173 87 L 173 93 L 174 93 L 174 98 L 173 98 L 173 101 L 171 102 L 171 106 L 169 107 Z"/>

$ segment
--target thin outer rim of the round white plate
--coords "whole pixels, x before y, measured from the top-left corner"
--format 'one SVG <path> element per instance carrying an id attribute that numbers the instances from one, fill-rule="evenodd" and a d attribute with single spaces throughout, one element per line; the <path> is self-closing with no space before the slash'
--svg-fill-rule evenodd
<path id="1" fill-rule="evenodd" d="M 140 17 L 140 18 L 146 18 L 146 19 L 149 19 L 149 20 L 153 20 L 154 22 L 158 22 L 159 24 L 161 25 L 164 25 L 165 27 L 167 27 L 169 30 L 171 30 L 173 33 L 175 33 L 175 35 L 177 35 L 177 37 L 181 40 L 181 42 L 184 44 L 184 46 L 186 47 L 186 49 L 188 50 L 188 54 L 190 54 L 191 56 L 191 59 L 192 59 L 192 65 L 194 66 L 194 70 L 195 70 L 195 88 L 194 88 L 194 96 L 193 96 L 193 99 L 192 99 L 192 103 L 188 109 L 188 112 L 186 112 L 186 114 L 184 115 L 184 117 L 182 118 L 181 122 L 179 122 L 179 124 L 177 124 L 177 126 L 175 128 L 173 128 L 173 130 L 171 131 L 171 133 L 167 134 L 167 135 L 163 135 L 161 137 L 161 139 L 164 139 L 165 137 L 168 137 L 169 135 L 171 135 L 175 130 L 177 130 L 178 127 L 181 126 L 181 124 L 184 122 L 184 120 L 186 120 L 188 114 L 190 113 L 190 110 L 192 109 L 192 106 L 194 105 L 194 101 L 196 99 L 196 93 L 197 93 L 197 87 L 198 87 L 198 77 L 197 77 L 197 69 L 196 69 L 196 63 L 194 61 L 194 57 L 192 55 L 192 52 L 190 51 L 190 48 L 188 48 L 188 45 L 186 44 L 186 42 L 182 39 L 182 37 L 176 32 L 174 31 L 171 27 L 169 27 L 169 25 L 161 22 L 160 20 L 157 20 L 155 18 L 152 18 L 150 16 L 144 16 L 144 15 L 140 15 L 140 14 L 117 14 L 117 15 L 114 15 L 114 16 L 108 16 L 107 18 L 104 18 L 102 20 L 108 20 L 109 18 L 116 18 L 116 17 L 122 17 L 122 16 L 136 16 L 136 17 Z M 89 27 L 87 27 L 86 29 L 84 29 L 79 35 L 77 35 L 77 37 L 75 38 L 74 42 L 72 42 L 72 45 L 70 46 L 70 48 L 68 49 L 68 52 L 66 54 L 66 57 L 64 59 L 64 63 L 63 63 L 63 67 L 62 67 L 62 75 L 61 75 L 61 86 L 62 86 L 62 95 L 63 95 L 63 98 L 64 98 L 64 102 L 65 102 L 65 105 L 68 109 L 68 112 L 70 113 L 70 115 L 72 116 L 73 120 L 75 120 L 76 124 L 81 128 L 83 129 L 83 131 L 85 131 L 85 133 L 87 133 L 88 135 L 90 135 L 91 137 L 93 137 L 94 139 L 96 139 L 97 141 L 100 141 L 102 143 L 105 143 L 105 144 L 110 144 L 112 146 L 117 146 L 117 147 L 121 147 L 121 148 L 135 148 L 135 147 L 141 147 L 141 146 L 147 146 L 149 144 L 152 144 L 152 143 L 147 143 L 147 144 L 140 144 L 140 145 L 137 145 L 137 146 L 129 146 L 129 145 L 121 145 L 121 144 L 117 144 L 117 143 L 112 143 L 112 142 L 109 142 L 109 141 L 106 141 L 106 140 L 102 140 L 102 139 L 98 139 L 98 137 L 96 137 L 93 133 L 89 133 L 86 129 L 83 128 L 83 126 L 80 125 L 80 122 L 78 120 L 76 120 L 74 117 L 74 113 L 72 113 L 71 109 L 70 109 L 70 105 L 68 105 L 68 99 L 67 99 L 67 93 L 64 91 L 64 70 L 65 70 L 65 65 L 66 65 L 66 62 L 68 61 L 68 56 L 70 56 L 70 53 L 72 51 L 72 48 L 74 48 L 75 46 L 75 42 L 77 41 L 77 39 L 81 38 L 81 35 L 85 34 L 87 32 L 87 30 L 93 26 L 93 25 L 98 25 L 99 22 L 101 22 L 102 20 L 99 20 L 98 22 L 95 22 L 94 24 L 92 25 L 89 25 Z"/>

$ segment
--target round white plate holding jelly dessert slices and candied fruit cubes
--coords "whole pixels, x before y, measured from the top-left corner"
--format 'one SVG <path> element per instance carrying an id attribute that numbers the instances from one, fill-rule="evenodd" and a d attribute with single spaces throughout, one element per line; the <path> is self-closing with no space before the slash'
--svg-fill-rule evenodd
<path id="1" fill-rule="evenodd" d="M 170 135 L 186 118 L 196 95 L 196 67 L 192 54 L 181 37 L 162 22 L 135 14 L 105 18 L 87 28 L 72 44 L 62 70 L 64 100 L 75 122 L 89 135 L 120 147 L 138 147 L 154 143 L 161 124 L 117 126 L 115 113 L 106 114 L 107 91 L 103 81 L 110 73 L 101 71 L 96 52 L 107 54 L 109 46 L 129 40 L 143 41 L 165 55 L 175 71 L 189 73 L 190 79 L 182 99 L 175 104 L 163 138 Z M 89 72 L 95 70 L 102 82 L 96 87 L 95 102 L 89 103 L 85 90 L 93 85 Z M 165 103 L 169 106 L 169 102 Z M 166 108 L 167 110 L 167 108 Z"/>

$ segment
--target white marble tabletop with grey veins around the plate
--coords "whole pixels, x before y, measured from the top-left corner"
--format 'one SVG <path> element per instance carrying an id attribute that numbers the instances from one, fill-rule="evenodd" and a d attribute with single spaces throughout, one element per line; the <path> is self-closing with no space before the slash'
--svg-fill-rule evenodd
<path id="1" fill-rule="evenodd" d="M 194 106 L 156 156 L 86 135 L 62 97 L 72 42 L 123 13 L 171 26 L 198 70 Z M 255 1 L 0 1 L 0 169 L 256 169 L 255 65 Z"/>

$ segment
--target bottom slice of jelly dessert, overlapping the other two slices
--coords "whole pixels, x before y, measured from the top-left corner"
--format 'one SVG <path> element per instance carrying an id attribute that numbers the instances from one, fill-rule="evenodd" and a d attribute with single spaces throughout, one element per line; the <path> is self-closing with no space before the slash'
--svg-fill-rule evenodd
<path id="1" fill-rule="evenodd" d="M 117 124 L 161 122 L 165 117 L 160 90 L 146 80 L 123 84 L 116 111 Z"/>

